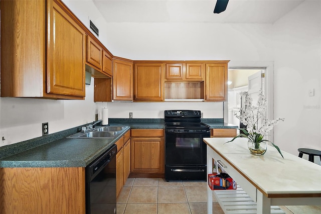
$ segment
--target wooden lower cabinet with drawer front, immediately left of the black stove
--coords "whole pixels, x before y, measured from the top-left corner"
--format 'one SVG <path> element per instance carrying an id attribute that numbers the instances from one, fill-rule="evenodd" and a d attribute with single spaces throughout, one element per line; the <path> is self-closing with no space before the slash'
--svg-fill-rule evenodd
<path id="1" fill-rule="evenodd" d="M 164 173 L 164 130 L 131 130 L 131 137 L 131 172 Z"/>

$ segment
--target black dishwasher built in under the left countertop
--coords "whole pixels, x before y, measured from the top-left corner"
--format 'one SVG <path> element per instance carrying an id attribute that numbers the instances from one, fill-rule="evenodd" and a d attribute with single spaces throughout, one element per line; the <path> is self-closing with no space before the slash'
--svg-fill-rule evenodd
<path id="1" fill-rule="evenodd" d="M 86 167 L 86 213 L 116 213 L 116 153 L 113 145 Z"/>

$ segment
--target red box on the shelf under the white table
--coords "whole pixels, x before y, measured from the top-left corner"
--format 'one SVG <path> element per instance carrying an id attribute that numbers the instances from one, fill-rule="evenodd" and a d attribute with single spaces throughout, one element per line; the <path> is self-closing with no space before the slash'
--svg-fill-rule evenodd
<path id="1" fill-rule="evenodd" d="M 212 190 L 236 189 L 236 182 L 233 178 L 220 178 L 217 173 L 208 175 L 209 187 Z"/>

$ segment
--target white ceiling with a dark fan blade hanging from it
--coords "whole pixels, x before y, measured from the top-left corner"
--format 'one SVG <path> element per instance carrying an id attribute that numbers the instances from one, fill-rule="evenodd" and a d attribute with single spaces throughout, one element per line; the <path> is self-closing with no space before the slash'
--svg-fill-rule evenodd
<path id="1" fill-rule="evenodd" d="M 274 23 L 303 1 L 230 0 L 214 14 L 216 0 L 93 0 L 106 22 Z"/>

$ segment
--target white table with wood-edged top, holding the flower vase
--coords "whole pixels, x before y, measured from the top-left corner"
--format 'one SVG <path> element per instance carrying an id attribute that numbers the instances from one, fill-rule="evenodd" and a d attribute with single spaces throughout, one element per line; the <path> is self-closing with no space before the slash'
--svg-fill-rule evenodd
<path id="1" fill-rule="evenodd" d="M 257 213 L 271 213 L 271 205 L 321 205 L 321 166 L 268 146 L 262 156 L 251 155 L 247 140 L 204 138 L 208 174 L 212 158 L 257 204 Z M 230 191 L 230 190 L 226 190 Z M 208 188 L 208 213 L 212 214 L 212 190 Z"/>

